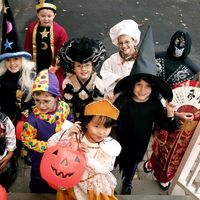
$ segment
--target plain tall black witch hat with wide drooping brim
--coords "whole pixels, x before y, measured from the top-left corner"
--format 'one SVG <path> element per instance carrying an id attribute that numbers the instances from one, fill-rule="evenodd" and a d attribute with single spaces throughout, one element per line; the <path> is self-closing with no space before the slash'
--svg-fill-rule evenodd
<path id="1" fill-rule="evenodd" d="M 141 43 L 138 57 L 133 65 L 129 76 L 120 80 L 114 88 L 114 94 L 130 91 L 136 80 L 141 77 L 147 78 L 154 83 L 157 91 L 168 101 L 172 100 L 173 94 L 170 86 L 161 78 L 156 76 L 155 50 L 152 29 L 148 26 L 144 39 Z"/>

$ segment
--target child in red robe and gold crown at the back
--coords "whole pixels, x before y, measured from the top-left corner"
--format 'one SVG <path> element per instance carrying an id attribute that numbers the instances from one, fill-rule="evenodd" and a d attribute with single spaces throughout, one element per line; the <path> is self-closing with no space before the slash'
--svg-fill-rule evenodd
<path id="1" fill-rule="evenodd" d="M 40 72 L 55 65 L 57 51 L 68 41 L 68 35 L 62 26 L 54 22 L 56 6 L 52 0 L 38 0 L 36 11 L 38 21 L 29 25 L 24 48 L 32 54 Z"/>

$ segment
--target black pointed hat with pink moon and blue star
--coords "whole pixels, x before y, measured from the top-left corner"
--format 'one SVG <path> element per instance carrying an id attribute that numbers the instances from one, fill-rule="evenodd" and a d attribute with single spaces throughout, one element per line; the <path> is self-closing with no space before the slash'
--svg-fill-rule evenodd
<path id="1" fill-rule="evenodd" d="M 7 58 L 25 57 L 31 59 L 31 54 L 24 51 L 22 42 L 19 38 L 12 10 L 8 0 L 4 0 L 4 14 L 2 26 L 2 45 L 0 61 Z"/>

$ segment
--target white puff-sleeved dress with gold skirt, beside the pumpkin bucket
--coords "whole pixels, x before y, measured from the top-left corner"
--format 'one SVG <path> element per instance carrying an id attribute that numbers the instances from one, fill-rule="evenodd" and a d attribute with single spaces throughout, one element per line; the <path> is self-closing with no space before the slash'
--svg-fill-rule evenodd
<path id="1" fill-rule="evenodd" d="M 86 170 L 81 181 L 67 189 L 65 199 L 108 199 L 116 200 L 114 189 L 117 185 L 115 176 L 110 172 L 113 170 L 116 156 L 120 153 L 119 143 L 111 137 L 101 143 L 91 143 L 86 137 L 81 139 L 87 146 L 85 153 L 87 159 Z"/>

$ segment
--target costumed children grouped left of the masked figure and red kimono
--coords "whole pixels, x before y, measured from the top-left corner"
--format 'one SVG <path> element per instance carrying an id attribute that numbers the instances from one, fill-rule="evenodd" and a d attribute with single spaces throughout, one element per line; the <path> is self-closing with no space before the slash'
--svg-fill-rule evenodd
<path id="1" fill-rule="evenodd" d="M 0 183 L 9 188 L 2 180 L 10 166 L 16 167 L 14 126 L 23 115 L 21 141 L 31 158 L 31 192 L 56 192 L 41 177 L 40 162 L 45 150 L 58 142 L 55 135 L 66 129 L 67 120 L 74 124 L 67 127 L 63 138 L 80 136 L 86 169 L 76 186 L 58 189 L 57 199 L 116 199 L 117 181 L 111 171 L 117 165 L 122 171 L 121 193 L 130 194 L 155 127 L 179 128 L 172 90 L 156 76 L 154 49 L 150 56 L 146 51 L 153 46 L 151 29 L 138 50 L 138 24 L 134 20 L 116 24 L 110 37 L 119 52 L 104 61 L 106 50 L 101 41 L 86 37 L 68 41 L 66 31 L 54 22 L 56 6 L 50 0 L 39 0 L 38 21 L 28 28 L 24 51 L 16 40 L 7 0 L 5 7 L 0 106 L 6 114 L 0 115 Z M 7 29 L 6 21 L 13 30 Z M 102 63 L 101 79 L 96 69 Z M 161 96 L 166 99 L 165 106 Z M 14 167 L 12 175 L 16 174 Z"/>

